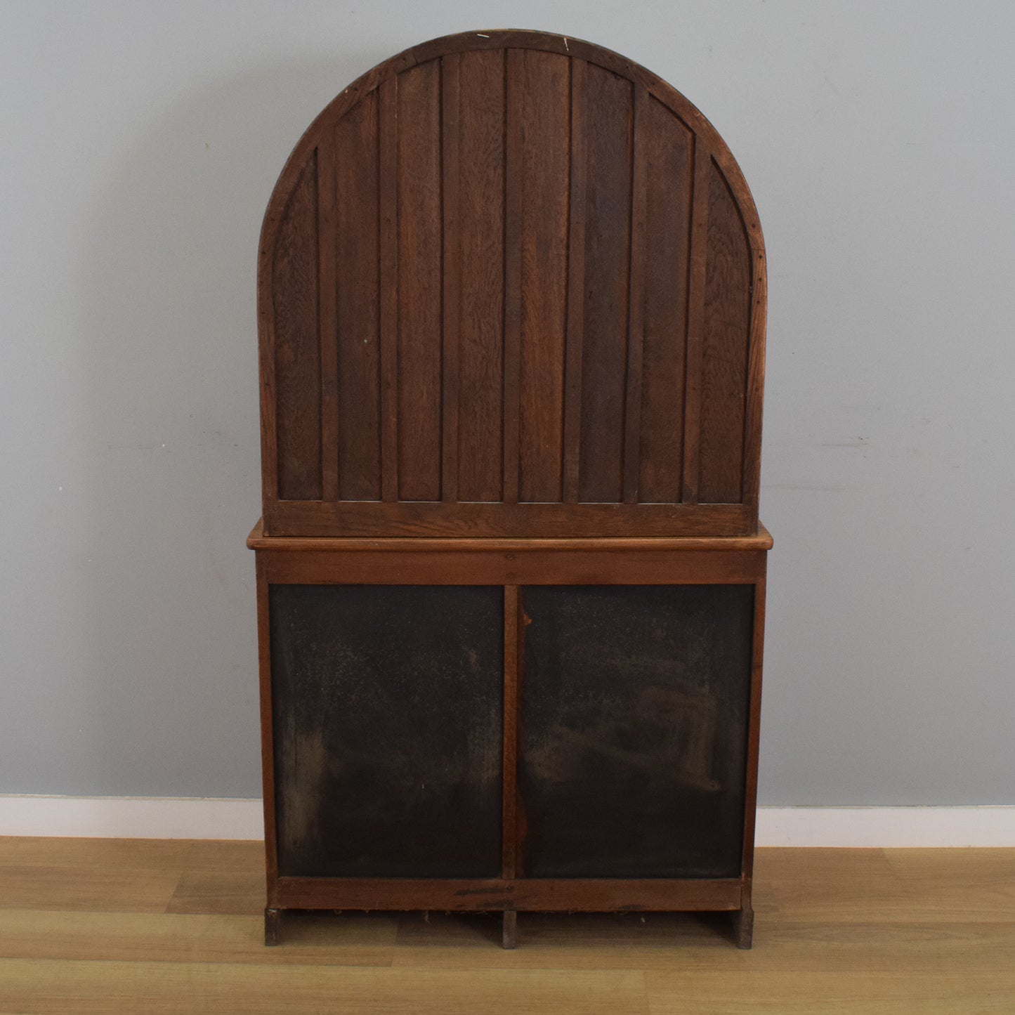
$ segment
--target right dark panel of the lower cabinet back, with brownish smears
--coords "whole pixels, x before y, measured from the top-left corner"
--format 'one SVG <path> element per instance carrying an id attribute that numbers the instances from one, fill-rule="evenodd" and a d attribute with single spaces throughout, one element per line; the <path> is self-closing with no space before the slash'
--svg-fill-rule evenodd
<path id="1" fill-rule="evenodd" d="M 524 590 L 526 876 L 740 876 L 753 595 Z"/>

